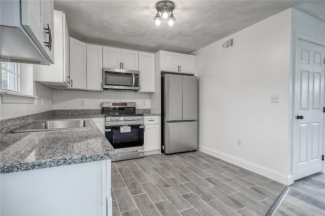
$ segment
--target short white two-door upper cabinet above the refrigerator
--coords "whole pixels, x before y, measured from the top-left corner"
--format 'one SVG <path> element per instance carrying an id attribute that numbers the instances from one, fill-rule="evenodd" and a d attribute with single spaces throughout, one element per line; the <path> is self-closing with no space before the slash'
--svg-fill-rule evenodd
<path id="1" fill-rule="evenodd" d="M 196 56 L 161 51 L 161 70 L 176 73 L 195 74 Z"/>

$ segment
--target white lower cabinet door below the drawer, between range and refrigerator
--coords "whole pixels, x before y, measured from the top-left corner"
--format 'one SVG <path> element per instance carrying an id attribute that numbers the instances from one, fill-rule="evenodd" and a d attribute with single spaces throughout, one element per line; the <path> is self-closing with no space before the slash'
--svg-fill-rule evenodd
<path id="1" fill-rule="evenodd" d="M 144 151 L 159 150 L 159 125 L 145 125 Z"/>

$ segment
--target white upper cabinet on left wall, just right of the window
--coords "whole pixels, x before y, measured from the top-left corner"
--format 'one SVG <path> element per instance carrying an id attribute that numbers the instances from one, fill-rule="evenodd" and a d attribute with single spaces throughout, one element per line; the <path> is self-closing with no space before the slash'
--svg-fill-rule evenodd
<path id="1" fill-rule="evenodd" d="M 49 87 L 69 87 L 69 32 L 66 15 L 54 11 L 54 57 L 50 66 L 34 65 L 34 80 Z"/>

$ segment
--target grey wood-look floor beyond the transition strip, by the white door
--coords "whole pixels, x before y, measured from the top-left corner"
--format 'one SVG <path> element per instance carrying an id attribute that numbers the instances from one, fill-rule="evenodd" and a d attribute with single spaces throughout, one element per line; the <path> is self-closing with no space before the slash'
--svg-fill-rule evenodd
<path id="1" fill-rule="evenodd" d="M 296 180 L 274 215 L 325 215 L 325 173 Z"/>

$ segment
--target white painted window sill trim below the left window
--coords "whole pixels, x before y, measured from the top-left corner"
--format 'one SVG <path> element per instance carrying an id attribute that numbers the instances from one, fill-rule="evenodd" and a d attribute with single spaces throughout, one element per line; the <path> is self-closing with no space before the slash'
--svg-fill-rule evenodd
<path id="1" fill-rule="evenodd" d="M 10 91 L 1 91 L 1 102 L 2 103 L 21 103 L 21 104 L 32 104 L 35 102 L 37 96 L 25 95 Z"/>

